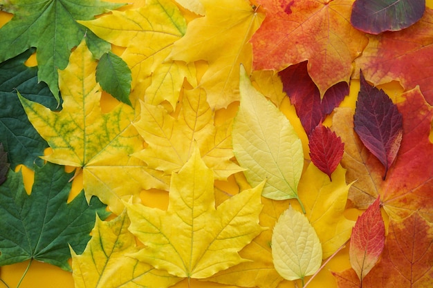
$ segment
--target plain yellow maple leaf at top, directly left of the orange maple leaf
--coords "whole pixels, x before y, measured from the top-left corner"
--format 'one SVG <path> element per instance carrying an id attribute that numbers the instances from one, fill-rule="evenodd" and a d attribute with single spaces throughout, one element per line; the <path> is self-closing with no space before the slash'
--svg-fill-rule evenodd
<path id="1" fill-rule="evenodd" d="M 188 23 L 185 36 L 176 41 L 169 59 L 192 63 L 208 61 L 199 87 L 208 95 L 212 110 L 239 100 L 239 65 L 250 72 L 249 43 L 264 15 L 244 0 L 203 0 L 205 17 Z M 230 45 L 228 45 L 230 44 Z"/>

